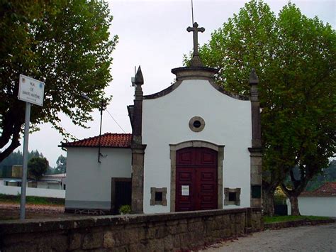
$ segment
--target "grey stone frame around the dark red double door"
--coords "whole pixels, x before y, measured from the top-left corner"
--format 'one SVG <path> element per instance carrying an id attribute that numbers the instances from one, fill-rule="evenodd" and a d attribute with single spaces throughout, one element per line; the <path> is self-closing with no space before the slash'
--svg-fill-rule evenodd
<path id="1" fill-rule="evenodd" d="M 186 141 L 177 144 L 169 144 L 170 146 L 170 212 L 175 212 L 176 204 L 176 162 L 177 162 L 177 150 L 188 147 L 203 147 L 209 148 L 217 151 L 217 199 L 218 199 L 218 209 L 223 209 L 223 160 L 224 160 L 224 147 L 216 145 L 215 143 L 210 143 L 206 141 Z"/>

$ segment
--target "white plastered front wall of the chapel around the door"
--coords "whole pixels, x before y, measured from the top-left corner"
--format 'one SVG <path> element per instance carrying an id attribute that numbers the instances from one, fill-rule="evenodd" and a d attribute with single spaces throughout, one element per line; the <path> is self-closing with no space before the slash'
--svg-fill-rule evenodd
<path id="1" fill-rule="evenodd" d="M 201 116 L 206 126 L 191 131 L 189 120 Z M 185 80 L 164 97 L 145 99 L 142 143 L 145 149 L 144 212 L 170 212 L 169 144 L 201 140 L 224 145 L 223 188 L 241 188 L 240 206 L 250 207 L 251 103 L 218 92 L 206 80 Z M 167 187 L 167 206 L 150 206 L 150 187 Z M 223 197 L 224 199 L 224 197 Z"/>

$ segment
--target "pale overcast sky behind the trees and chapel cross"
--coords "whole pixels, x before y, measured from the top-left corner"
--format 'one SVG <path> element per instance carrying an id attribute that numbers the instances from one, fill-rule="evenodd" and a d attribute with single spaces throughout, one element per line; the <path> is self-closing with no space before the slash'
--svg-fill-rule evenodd
<path id="1" fill-rule="evenodd" d="M 211 32 L 220 28 L 222 24 L 238 13 L 246 1 L 228 0 L 194 0 L 194 21 L 206 28 L 198 35 L 200 44 L 211 38 Z M 287 1 L 268 0 L 274 13 Z M 292 0 L 302 13 L 313 18 L 318 16 L 324 23 L 336 26 L 335 0 Z M 130 78 L 134 76 L 135 65 L 141 65 L 145 84 L 142 86 L 144 94 L 152 94 L 168 87 L 174 80 L 170 72 L 172 68 L 182 66 L 182 58 L 188 53 L 192 45 L 192 34 L 186 32 L 191 26 L 191 0 L 110 0 L 113 22 L 111 34 L 119 36 L 119 43 L 113 51 L 113 65 L 111 73 L 113 81 L 106 89 L 107 94 L 113 95 L 113 100 L 107 110 L 118 121 L 123 130 L 113 121 L 105 111 L 103 113 L 102 132 L 131 133 L 128 111 L 126 106 L 133 104 L 134 89 Z M 34 105 L 33 105 L 34 106 Z M 93 112 L 94 121 L 88 124 L 89 129 L 74 126 L 65 116 L 62 126 L 76 138 L 82 139 L 99 135 L 99 111 Z M 50 124 L 41 126 L 41 130 L 29 136 L 29 150 L 42 152 L 55 166 L 57 157 L 65 151 L 57 147 L 62 136 Z M 16 150 L 23 150 L 21 145 Z"/>

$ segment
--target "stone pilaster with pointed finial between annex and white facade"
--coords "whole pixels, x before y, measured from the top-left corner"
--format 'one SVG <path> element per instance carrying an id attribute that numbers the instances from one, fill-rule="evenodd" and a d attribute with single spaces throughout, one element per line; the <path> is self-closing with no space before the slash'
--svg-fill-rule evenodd
<path id="1" fill-rule="evenodd" d="M 142 144 L 142 84 L 141 67 L 135 75 L 135 99 L 132 119 L 132 212 L 143 213 L 143 174 L 145 148 Z"/>

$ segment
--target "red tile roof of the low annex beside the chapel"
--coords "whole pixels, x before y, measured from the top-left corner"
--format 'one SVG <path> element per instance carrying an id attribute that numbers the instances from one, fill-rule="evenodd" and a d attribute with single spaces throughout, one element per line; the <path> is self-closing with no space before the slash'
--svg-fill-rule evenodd
<path id="1" fill-rule="evenodd" d="M 101 135 L 101 147 L 105 148 L 130 148 L 132 134 L 130 133 L 105 133 Z M 85 138 L 79 141 L 62 143 L 60 147 L 98 147 L 99 136 Z"/>

